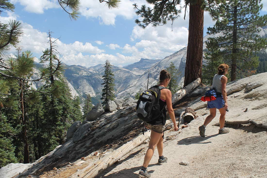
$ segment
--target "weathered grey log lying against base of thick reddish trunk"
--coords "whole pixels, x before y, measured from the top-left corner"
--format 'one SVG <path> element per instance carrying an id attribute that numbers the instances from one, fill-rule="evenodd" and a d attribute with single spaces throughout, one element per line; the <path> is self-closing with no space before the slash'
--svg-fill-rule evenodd
<path id="1" fill-rule="evenodd" d="M 188 84 L 183 87 L 181 90 L 177 91 L 174 95 L 172 95 L 171 102 L 172 105 L 176 104 L 180 99 L 182 99 L 185 95 L 189 94 L 192 90 L 197 88 L 201 84 L 200 78 L 195 80 L 194 82 Z"/>

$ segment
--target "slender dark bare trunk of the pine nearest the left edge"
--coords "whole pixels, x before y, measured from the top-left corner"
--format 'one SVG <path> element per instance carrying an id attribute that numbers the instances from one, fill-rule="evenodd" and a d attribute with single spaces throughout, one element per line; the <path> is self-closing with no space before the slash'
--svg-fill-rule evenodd
<path id="1" fill-rule="evenodd" d="M 24 91 L 22 87 L 22 80 L 19 82 L 19 87 L 21 89 L 20 92 L 20 108 L 21 108 L 21 118 L 22 118 L 22 134 L 23 134 L 23 142 L 24 142 L 24 157 L 23 157 L 23 163 L 30 163 L 29 158 L 29 145 L 27 141 L 27 130 L 26 130 L 26 118 L 25 118 L 25 112 L 24 112 Z"/>

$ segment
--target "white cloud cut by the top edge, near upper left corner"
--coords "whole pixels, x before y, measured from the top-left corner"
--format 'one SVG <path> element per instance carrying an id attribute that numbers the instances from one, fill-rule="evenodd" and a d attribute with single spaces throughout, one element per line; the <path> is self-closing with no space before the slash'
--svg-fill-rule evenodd
<path id="1" fill-rule="evenodd" d="M 59 8 L 56 0 L 10 0 L 11 3 L 19 3 L 25 6 L 25 10 L 32 13 L 42 14 L 44 10 L 50 8 Z"/>

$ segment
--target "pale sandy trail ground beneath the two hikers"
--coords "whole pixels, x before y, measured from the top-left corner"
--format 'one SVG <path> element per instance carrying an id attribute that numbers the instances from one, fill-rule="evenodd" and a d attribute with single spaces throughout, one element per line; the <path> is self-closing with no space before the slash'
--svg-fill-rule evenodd
<path id="1" fill-rule="evenodd" d="M 206 113 L 205 109 L 198 114 Z M 227 118 L 235 113 L 230 111 Z M 205 138 L 199 136 L 198 127 L 207 115 L 198 117 L 181 130 L 172 140 L 164 142 L 164 156 L 168 162 L 157 165 L 158 152 L 148 167 L 151 177 L 187 177 L 187 178 L 254 178 L 267 177 L 267 132 L 253 124 L 239 128 L 229 128 L 230 132 L 219 135 L 217 126 L 219 113 L 207 126 Z M 178 131 L 179 132 L 179 131 Z M 174 131 L 165 132 L 165 137 Z M 123 157 L 116 164 L 100 173 L 97 178 L 138 177 L 143 164 L 147 144 L 135 148 L 130 155 Z M 190 165 L 179 165 L 187 161 Z"/>

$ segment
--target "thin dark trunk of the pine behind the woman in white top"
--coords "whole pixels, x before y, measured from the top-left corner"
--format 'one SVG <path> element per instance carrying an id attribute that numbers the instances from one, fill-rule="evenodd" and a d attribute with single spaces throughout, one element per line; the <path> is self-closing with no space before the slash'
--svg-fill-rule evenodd
<path id="1" fill-rule="evenodd" d="M 235 1 L 235 4 L 237 2 Z M 234 24 L 233 24 L 233 53 L 231 63 L 231 81 L 236 79 L 236 53 L 237 53 L 237 5 L 234 6 Z"/>

